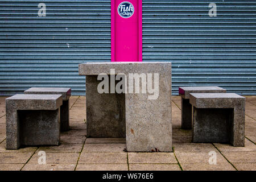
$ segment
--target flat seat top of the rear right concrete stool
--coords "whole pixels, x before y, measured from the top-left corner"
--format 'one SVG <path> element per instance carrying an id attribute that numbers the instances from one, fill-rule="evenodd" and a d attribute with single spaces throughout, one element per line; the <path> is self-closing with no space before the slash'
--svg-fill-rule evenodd
<path id="1" fill-rule="evenodd" d="M 179 95 L 185 99 L 189 99 L 190 93 L 225 93 L 226 89 L 219 86 L 181 86 L 179 87 Z"/>

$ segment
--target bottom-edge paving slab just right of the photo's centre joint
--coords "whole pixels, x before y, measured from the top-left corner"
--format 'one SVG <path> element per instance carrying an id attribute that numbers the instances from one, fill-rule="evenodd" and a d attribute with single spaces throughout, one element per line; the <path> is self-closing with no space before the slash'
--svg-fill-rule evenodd
<path id="1" fill-rule="evenodd" d="M 130 171 L 181 171 L 178 164 L 129 164 Z"/>

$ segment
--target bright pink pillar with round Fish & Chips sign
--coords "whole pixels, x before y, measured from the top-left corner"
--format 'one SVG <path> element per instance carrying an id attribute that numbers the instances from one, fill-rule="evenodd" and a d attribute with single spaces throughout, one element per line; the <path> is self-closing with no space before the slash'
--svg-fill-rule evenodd
<path id="1" fill-rule="evenodd" d="M 111 1 L 111 61 L 142 61 L 142 0 Z"/>

